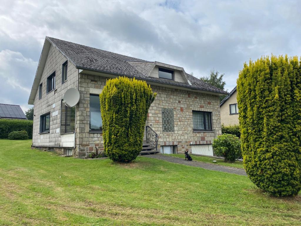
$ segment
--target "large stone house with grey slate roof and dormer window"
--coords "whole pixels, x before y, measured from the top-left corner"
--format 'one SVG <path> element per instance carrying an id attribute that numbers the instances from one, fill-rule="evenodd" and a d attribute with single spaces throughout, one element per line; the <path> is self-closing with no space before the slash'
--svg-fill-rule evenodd
<path id="1" fill-rule="evenodd" d="M 146 141 L 157 133 L 161 152 L 213 154 L 212 141 L 221 134 L 219 96 L 227 92 L 182 67 L 50 37 L 45 39 L 28 101 L 34 105 L 33 147 L 74 157 L 87 157 L 95 147 L 103 150 L 99 93 L 107 79 L 118 76 L 145 80 L 157 92 L 147 115 Z M 80 99 L 69 108 L 62 100 L 72 87 L 79 90 Z"/>

